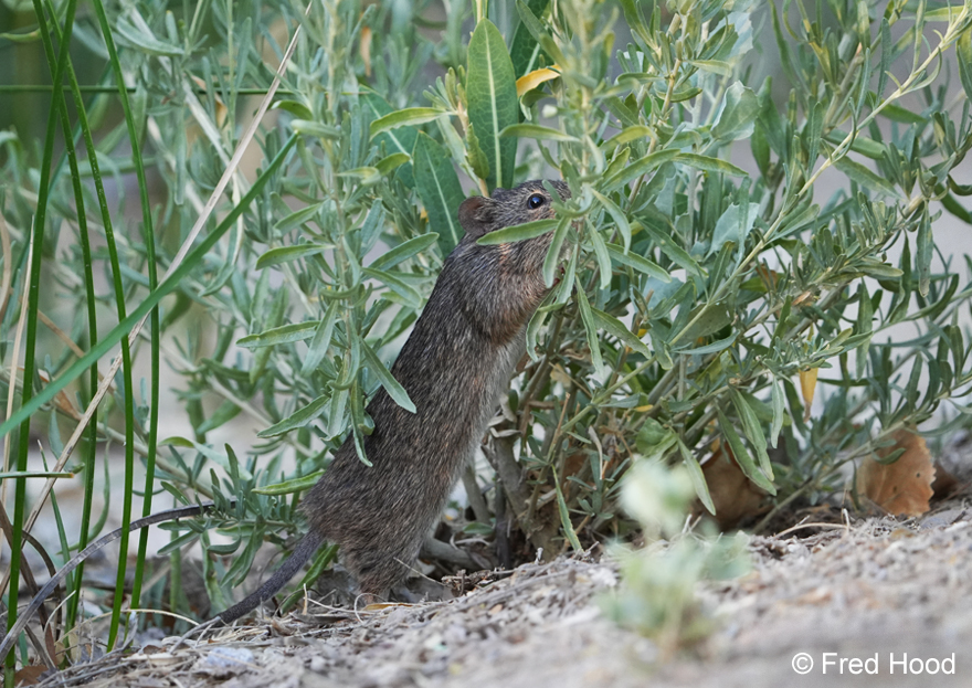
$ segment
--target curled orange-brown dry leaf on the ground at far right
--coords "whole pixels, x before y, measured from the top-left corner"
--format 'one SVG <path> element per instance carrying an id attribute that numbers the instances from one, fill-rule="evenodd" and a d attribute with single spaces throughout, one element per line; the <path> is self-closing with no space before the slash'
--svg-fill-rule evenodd
<path id="1" fill-rule="evenodd" d="M 894 516 L 920 516 L 928 511 L 934 466 L 925 438 L 908 430 L 892 435 L 895 444 L 878 449 L 880 457 L 904 448 L 892 464 L 879 464 L 869 456 L 857 470 L 857 491 Z"/>

